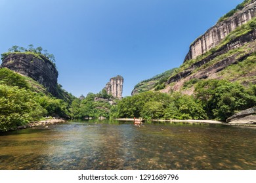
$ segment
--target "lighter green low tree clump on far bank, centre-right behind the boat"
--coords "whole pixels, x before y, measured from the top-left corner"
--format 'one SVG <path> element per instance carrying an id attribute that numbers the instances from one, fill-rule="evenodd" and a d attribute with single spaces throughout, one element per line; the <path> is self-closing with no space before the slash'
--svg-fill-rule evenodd
<path id="1" fill-rule="evenodd" d="M 144 92 L 125 97 L 117 104 L 119 118 L 205 119 L 202 106 L 194 97 L 181 93 Z"/>

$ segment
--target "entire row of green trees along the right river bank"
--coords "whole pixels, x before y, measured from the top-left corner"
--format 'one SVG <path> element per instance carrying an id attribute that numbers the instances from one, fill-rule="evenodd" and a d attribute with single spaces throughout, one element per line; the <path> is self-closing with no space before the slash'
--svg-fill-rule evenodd
<path id="1" fill-rule="evenodd" d="M 190 80 L 185 87 L 196 86 L 196 95 L 143 92 L 125 97 L 113 108 L 116 118 L 144 119 L 216 119 L 226 120 L 235 112 L 256 105 L 256 86 L 245 88 L 227 80 Z"/>

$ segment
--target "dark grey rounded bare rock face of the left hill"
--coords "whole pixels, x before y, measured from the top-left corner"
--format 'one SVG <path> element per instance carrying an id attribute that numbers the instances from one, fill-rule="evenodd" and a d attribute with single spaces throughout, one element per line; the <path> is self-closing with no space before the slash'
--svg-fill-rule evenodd
<path id="1" fill-rule="evenodd" d="M 49 59 L 34 54 L 12 53 L 3 59 L 1 67 L 29 76 L 39 82 L 54 96 L 57 95 L 58 71 Z"/>

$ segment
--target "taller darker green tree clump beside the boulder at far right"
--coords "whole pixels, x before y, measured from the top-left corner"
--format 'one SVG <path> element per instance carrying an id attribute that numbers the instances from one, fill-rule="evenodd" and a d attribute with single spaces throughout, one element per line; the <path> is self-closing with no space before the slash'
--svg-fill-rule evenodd
<path id="1" fill-rule="evenodd" d="M 238 82 L 202 80 L 196 84 L 196 98 L 209 118 L 226 120 L 235 112 L 256 105 L 255 86 L 246 89 Z"/>

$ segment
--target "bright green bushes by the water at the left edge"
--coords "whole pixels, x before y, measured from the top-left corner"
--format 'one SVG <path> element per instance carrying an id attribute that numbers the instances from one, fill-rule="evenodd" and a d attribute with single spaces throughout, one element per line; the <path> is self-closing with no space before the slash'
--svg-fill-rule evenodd
<path id="1" fill-rule="evenodd" d="M 32 92 L 17 86 L 0 84 L 0 131 L 8 131 L 32 120 L 39 120 L 45 112 L 34 101 Z"/>

